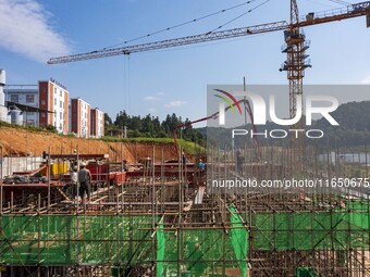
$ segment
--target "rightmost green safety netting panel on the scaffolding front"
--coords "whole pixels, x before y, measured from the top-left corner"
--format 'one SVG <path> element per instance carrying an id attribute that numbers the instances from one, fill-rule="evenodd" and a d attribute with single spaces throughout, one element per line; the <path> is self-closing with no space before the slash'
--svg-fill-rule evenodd
<path id="1" fill-rule="evenodd" d="M 252 214 L 255 250 L 347 250 L 369 245 L 367 202 L 329 212 Z"/>

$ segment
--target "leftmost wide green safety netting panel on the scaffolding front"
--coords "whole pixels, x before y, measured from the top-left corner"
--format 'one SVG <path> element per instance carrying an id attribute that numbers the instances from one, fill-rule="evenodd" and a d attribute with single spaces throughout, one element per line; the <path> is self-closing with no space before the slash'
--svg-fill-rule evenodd
<path id="1" fill-rule="evenodd" d="M 151 217 L 37 215 L 1 218 L 0 262 L 13 265 L 152 261 Z"/>

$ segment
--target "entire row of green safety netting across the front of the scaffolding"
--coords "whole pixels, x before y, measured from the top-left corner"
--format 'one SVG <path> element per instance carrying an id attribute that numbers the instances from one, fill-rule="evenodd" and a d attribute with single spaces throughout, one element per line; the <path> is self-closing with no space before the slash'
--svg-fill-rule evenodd
<path id="1" fill-rule="evenodd" d="M 318 212 L 255 213 L 230 206 L 230 231 L 165 229 L 166 217 L 137 215 L 3 215 L 0 263 L 12 265 L 118 265 L 157 263 L 157 276 L 246 276 L 254 250 L 369 248 L 369 202 Z M 251 222 L 249 222 L 251 221 Z M 243 222 L 246 222 L 244 224 Z M 250 226 L 248 230 L 247 227 Z M 175 276 L 175 275 L 174 275 Z"/>

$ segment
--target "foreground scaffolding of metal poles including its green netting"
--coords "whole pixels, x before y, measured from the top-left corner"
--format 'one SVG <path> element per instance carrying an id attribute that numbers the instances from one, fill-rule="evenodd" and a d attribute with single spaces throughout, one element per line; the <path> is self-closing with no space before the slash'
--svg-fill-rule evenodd
<path id="1" fill-rule="evenodd" d="M 311 149 L 304 173 L 367 176 L 367 166 L 340 161 L 343 151 L 325 160 Z M 3 202 L 2 276 L 370 276 L 366 191 L 211 193 L 205 178 L 242 176 L 232 152 L 208 153 L 203 174 L 198 158 L 165 164 L 152 149 L 149 166 L 97 187 L 89 203 L 59 197 L 48 205 L 41 193 L 32 203 Z M 252 162 L 252 150 L 245 152 L 244 177 L 304 178 L 289 171 L 288 151 L 262 147 L 261 154 Z"/>

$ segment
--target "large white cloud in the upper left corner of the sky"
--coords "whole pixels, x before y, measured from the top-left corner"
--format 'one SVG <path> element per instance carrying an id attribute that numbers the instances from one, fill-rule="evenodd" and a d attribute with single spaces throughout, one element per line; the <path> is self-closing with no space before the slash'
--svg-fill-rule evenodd
<path id="1" fill-rule="evenodd" d="M 36 0 L 0 0 L 0 14 L 1 48 L 38 62 L 70 53 L 49 23 L 52 14 Z"/>

